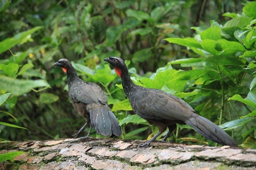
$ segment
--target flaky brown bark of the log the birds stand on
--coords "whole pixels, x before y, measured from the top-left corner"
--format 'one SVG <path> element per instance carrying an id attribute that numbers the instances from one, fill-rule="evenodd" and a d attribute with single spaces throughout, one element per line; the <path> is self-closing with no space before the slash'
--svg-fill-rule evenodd
<path id="1" fill-rule="evenodd" d="M 12 142 L 1 154 L 25 151 L 0 169 L 255 169 L 256 150 L 111 138 Z M 3 148 L 5 148 L 3 150 Z"/>

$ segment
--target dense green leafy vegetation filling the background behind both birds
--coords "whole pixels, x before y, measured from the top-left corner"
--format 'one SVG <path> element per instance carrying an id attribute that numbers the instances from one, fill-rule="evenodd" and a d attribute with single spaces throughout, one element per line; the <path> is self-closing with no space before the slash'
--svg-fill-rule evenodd
<path id="1" fill-rule="evenodd" d="M 66 75 L 53 67 L 61 58 L 103 88 L 120 138 L 151 138 L 156 127 L 134 115 L 103 61 L 117 56 L 136 84 L 184 99 L 242 147 L 256 148 L 255 11 L 247 1 L 1 1 L 1 140 L 70 138 L 82 127 Z M 188 126 L 170 140 L 214 145 Z"/>

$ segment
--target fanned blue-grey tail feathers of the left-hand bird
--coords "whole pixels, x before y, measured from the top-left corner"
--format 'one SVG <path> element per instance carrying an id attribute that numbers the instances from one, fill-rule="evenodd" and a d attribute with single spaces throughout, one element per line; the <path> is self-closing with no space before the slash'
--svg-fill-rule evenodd
<path id="1" fill-rule="evenodd" d="M 121 127 L 108 106 L 93 103 L 90 107 L 91 124 L 95 131 L 103 136 L 121 136 Z"/>

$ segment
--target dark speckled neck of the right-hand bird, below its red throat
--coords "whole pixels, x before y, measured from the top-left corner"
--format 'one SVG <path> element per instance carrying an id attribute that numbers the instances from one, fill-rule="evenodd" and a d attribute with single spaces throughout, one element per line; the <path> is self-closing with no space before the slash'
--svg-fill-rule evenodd
<path id="1" fill-rule="evenodd" d="M 132 82 L 131 77 L 129 76 L 128 70 L 122 71 L 121 80 L 122 80 L 124 93 L 129 97 L 131 90 L 135 87 L 135 84 Z"/>

